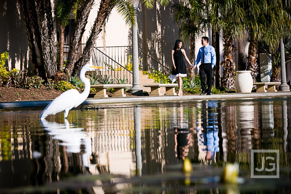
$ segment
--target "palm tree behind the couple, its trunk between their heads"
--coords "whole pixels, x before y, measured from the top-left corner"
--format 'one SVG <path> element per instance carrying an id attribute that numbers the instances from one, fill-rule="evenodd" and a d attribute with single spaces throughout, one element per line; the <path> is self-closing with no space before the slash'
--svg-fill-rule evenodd
<path id="1" fill-rule="evenodd" d="M 190 62 L 195 61 L 196 36 L 207 30 L 206 6 L 202 0 L 185 0 L 172 6 L 174 19 L 179 25 L 179 34 L 183 40 L 190 38 Z M 194 69 L 190 68 L 190 79 L 194 79 Z"/>

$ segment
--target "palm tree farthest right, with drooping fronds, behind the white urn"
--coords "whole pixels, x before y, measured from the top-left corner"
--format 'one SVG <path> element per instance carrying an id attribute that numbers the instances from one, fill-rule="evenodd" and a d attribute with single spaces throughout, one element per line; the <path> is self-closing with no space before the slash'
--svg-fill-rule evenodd
<path id="1" fill-rule="evenodd" d="M 256 82 L 258 75 L 258 41 L 267 43 L 270 51 L 275 53 L 279 46 L 280 37 L 283 29 L 290 28 L 290 19 L 285 10 L 283 10 L 278 1 L 255 1 L 247 0 L 247 18 L 245 21 L 248 41 L 250 42 L 248 49 L 247 70 L 251 71 L 253 82 Z M 277 74 L 276 66 L 274 73 Z M 276 78 L 277 80 L 277 78 Z"/>

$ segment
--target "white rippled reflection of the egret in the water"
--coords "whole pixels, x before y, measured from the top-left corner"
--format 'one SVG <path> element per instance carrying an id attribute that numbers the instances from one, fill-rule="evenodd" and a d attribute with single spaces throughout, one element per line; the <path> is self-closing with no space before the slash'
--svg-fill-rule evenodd
<path id="1" fill-rule="evenodd" d="M 84 128 L 75 127 L 73 124 L 69 124 L 67 119 L 64 120 L 64 124 L 56 122 L 49 122 L 45 119 L 41 119 L 41 125 L 44 127 L 52 139 L 61 141 L 59 145 L 66 147 L 66 151 L 70 153 L 79 153 L 81 146 L 85 146 L 85 153 L 82 154 L 83 166 L 89 167 L 87 155 L 92 154 L 92 142 L 84 132 Z"/>

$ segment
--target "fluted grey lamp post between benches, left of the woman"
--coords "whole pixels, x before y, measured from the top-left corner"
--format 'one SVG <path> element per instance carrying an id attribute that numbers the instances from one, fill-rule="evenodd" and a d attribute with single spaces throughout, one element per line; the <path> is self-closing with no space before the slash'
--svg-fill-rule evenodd
<path id="1" fill-rule="evenodd" d="M 137 47 L 137 7 L 140 0 L 131 0 L 131 4 L 134 6 L 134 21 L 135 25 L 132 26 L 132 75 L 133 75 L 133 82 L 132 88 L 129 91 L 137 96 L 143 96 L 143 89 L 140 88 L 140 76 L 139 76 L 139 69 L 138 69 L 138 47 Z"/>

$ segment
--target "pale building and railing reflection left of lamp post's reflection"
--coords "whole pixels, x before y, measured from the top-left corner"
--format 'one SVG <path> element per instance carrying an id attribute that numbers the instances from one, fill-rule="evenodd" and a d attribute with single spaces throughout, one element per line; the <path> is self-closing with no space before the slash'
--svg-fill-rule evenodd
<path id="1" fill-rule="evenodd" d="M 90 172 L 99 174 L 102 167 L 107 173 L 129 175 L 135 169 L 133 108 L 97 109 L 96 118 L 88 122 L 88 136 L 92 140 Z M 99 171 L 98 171 L 99 170 Z M 105 172 L 102 172 L 105 173 Z"/>

